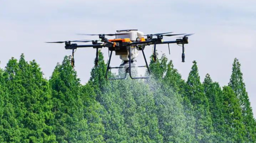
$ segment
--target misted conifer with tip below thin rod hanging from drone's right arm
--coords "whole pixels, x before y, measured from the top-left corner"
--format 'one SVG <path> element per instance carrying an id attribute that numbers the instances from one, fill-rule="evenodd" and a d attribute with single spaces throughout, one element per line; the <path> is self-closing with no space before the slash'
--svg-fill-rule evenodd
<path id="1" fill-rule="evenodd" d="M 177 69 L 173 67 L 172 61 L 169 61 L 167 65 L 167 72 L 166 72 L 166 76 L 164 77 L 164 84 L 166 85 L 164 87 L 167 87 L 167 89 L 164 90 L 165 92 L 168 90 L 169 92 L 173 90 L 171 94 L 169 93 L 168 98 L 173 102 L 173 105 L 171 106 L 175 107 L 174 109 L 176 110 L 176 113 L 179 113 L 177 115 L 171 115 L 171 116 L 169 115 L 170 118 L 175 118 L 180 124 L 179 129 L 181 129 L 180 132 L 182 132 L 182 134 L 178 136 L 183 140 L 180 140 L 179 142 L 184 141 L 185 143 L 196 143 L 196 138 L 194 136 L 195 135 L 195 130 L 194 130 L 195 118 L 193 117 L 190 111 L 192 108 L 192 105 L 189 100 L 183 98 L 185 95 L 184 92 L 185 92 L 186 82 L 183 79 L 181 79 L 181 75 L 178 73 Z M 170 95 L 173 95 L 173 96 L 170 96 Z"/>

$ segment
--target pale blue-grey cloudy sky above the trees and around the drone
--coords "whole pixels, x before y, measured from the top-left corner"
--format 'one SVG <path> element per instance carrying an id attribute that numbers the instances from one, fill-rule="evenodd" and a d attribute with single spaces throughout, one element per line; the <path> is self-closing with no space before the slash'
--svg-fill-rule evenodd
<path id="1" fill-rule="evenodd" d="M 35 59 L 49 79 L 57 62 L 71 50 L 64 44 L 46 41 L 98 39 L 76 33 L 114 33 L 120 29 L 139 29 L 145 34 L 158 32 L 196 33 L 189 37 L 185 63 L 181 47 L 157 47 L 166 54 L 183 79 L 188 78 L 196 60 L 200 78 L 207 73 L 221 86 L 228 84 L 234 58 L 241 63 L 243 78 L 256 117 L 256 1 L 255 0 L 0 0 L 0 68 L 11 57 L 24 53 L 27 61 Z M 111 37 L 109 37 L 111 38 Z M 167 37 L 165 40 L 175 40 Z M 108 51 L 102 49 L 105 60 Z M 152 54 L 147 46 L 145 54 Z M 90 78 L 95 49 L 78 49 L 75 69 L 81 83 Z M 113 57 L 112 65 L 121 63 Z M 137 65 L 144 64 L 143 56 Z"/>

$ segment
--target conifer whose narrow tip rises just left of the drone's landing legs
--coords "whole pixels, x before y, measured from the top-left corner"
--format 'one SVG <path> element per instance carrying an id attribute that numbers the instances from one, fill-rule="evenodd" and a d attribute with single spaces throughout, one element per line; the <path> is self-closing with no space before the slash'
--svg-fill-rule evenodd
<path id="1" fill-rule="evenodd" d="M 105 79 L 106 64 L 102 52 L 99 52 L 98 66 L 91 71 L 89 84 L 94 89 L 96 100 L 104 107 L 101 118 L 105 127 L 104 141 L 106 143 L 129 142 L 128 132 L 124 125 L 123 108 L 120 106 L 122 99 L 117 93 L 118 82 L 111 84 Z M 111 75 L 109 75 L 111 76 Z"/>

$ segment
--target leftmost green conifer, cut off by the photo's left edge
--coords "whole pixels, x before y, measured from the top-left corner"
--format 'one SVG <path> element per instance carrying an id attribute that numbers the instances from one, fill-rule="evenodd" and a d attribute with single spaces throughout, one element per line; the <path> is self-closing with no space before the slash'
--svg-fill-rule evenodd
<path id="1" fill-rule="evenodd" d="M 14 108 L 13 106 L 14 98 L 9 97 L 9 93 L 11 90 L 8 91 L 6 84 L 6 82 L 9 82 L 9 80 L 14 78 L 14 75 L 9 77 L 8 72 L 11 73 L 11 71 L 13 71 L 12 73 L 14 74 L 14 67 L 18 67 L 17 65 L 17 60 L 12 58 L 7 64 L 7 69 L 5 71 L 1 71 L 0 74 L 0 89 L 2 90 L 0 94 L 0 102 L 2 103 L 2 107 L 0 108 L 0 140 L 3 143 L 22 142 L 19 122 L 17 121 L 15 114 L 17 108 Z"/>

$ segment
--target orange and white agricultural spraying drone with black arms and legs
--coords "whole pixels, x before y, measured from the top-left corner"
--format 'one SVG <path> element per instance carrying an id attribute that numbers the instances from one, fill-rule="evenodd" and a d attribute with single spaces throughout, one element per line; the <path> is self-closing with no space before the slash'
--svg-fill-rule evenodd
<path id="1" fill-rule="evenodd" d="M 188 36 L 192 36 L 193 34 L 170 34 L 173 32 L 166 32 L 166 33 L 157 33 L 157 34 L 147 34 L 144 35 L 143 32 L 138 31 L 137 29 L 129 29 L 129 30 L 117 30 L 115 34 L 79 34 L 79 35 L 86 35 L 86 36 L 98 36 L 99 40 L 75 40 L 75 41 L 59 41 L 59 42 L 46 42 L 46 43 L 65 43 L 66 50 L 72 50 L 72 58 L 71 58 L 71 65 L 74 68 L 75 66 L 75 59 L 74 53 L 77 48 L 85 48 L 85 47 L 92 47 L 96 49 L 96 58 L 95 58 L 95 66 L 98 66 L 98 53 L 99 49 L 106 47 L 108 51 L 110 51 L 109 55 L 109 62 L 107 64 L 107 71 L 105 74 L 106 79 L 126 79 L 127 74 L 131 79 L 148 79 L 150 75 L 150 69 L 147 64 L 147 59 L 144 53 L 144 49 L 146 46 L 154 45 L 153 50 L 153 61 L 157 60 L 157 53 L 156 53 L 156 45 L 158 44 L 169 44 L 176 43 L 179 46 L 182 46 L 182 62 L 185 62 L 185 54 L 184 54 L 184 44 L 188 44 Z M 182 36 L 181 36 L 182 35 Z M 115 39 L 107 39 L 105 36 L 115 36 Z M 146 36 L 147 38 L 145 38 Z M 174 41 L 164 41 L 164 36 L 181 36 L 178 37 Z M 92 42 L 91 45 L 78 45 L 77 43 L 87 43 Z M 118 67 L 110 67 L 112 53 L 115 51 L 117 56 L 120 56 L 120 59 L 123 63 Z M 142 51 L 145 64 L 143 66 L 136 66 L 133 62 L 135 58 L 138 57 L 139 51 Z M 170 48 L 169 48 L 170 54 Z M 120 78 L 108 78 L 109 70 L 113 68 L 125 68 L 125 75 L 124 77 Z M 148 76 L 142 77 L 133 77 L 132 75 L 132 68 L 147 68 Z"/>

